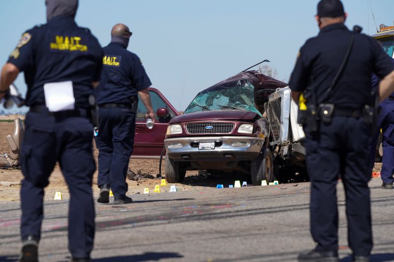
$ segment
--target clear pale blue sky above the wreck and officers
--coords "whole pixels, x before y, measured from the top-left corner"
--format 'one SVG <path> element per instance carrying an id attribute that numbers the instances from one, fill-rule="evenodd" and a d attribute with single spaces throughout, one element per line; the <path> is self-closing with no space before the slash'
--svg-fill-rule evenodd
<path id="1" fill-rule="evenodd" d="M 46 23 L 44 0 L 2 0 L 0 61 L 21 34 Z M 394 0 L 370 0 L 376 24 L 393 25 Z M 76 22 L 91 29 L 102 46 L 116 23 L 133 35 L 137 54 L 153 83 L 183 111 L 197 92 L 269 59 L 278 79 L 288 81 L 299 47 L 318 33 L 318 0 L 79 0 Z M 373 34 L 369 0 L 343 0 L 346 25 Z M 389 11 L 391 10 L 391 11 Z M 23 96 L 23 74 L 16 80 Z M 2 106 L 0 106 L 2 109 Z M 15 110 L 15 109 L 13 109 Z M 26 109 L 27 110 L 27 109 Z"/>

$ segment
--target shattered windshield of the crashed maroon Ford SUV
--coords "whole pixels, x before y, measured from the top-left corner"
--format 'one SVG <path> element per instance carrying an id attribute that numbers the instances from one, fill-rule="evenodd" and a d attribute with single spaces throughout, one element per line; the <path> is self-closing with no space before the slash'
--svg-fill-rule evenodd
<path id="1" fill-rule="evenodd" d="M 247 80 L 238 80 L 225 86 L 208 88 L 197 94 L 184 114 L 238 109 L 252 111 L 261 116 L 261 113 L 255 107 L 253 90 L 253 85 Z"/>

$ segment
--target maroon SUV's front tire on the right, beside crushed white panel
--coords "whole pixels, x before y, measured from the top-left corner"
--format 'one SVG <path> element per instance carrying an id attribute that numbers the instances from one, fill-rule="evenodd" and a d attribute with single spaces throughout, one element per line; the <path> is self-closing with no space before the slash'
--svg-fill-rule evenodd
<path id="1" fill-rule="evenodd" d="M 262 180 L 269 183 L 274 179 L 272 153 L 268 148 L 263 147 L 259 156 L 252 160 L 251 175 L 255 186 L 261 185 Z"/>

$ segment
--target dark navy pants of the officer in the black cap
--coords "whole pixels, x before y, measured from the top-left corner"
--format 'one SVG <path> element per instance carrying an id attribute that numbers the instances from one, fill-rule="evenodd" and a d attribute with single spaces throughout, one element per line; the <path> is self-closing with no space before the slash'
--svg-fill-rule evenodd
<path id="1" fill-rule="evenodd" d="M 330 124 L 320 125 L 319 133 L 304 128 L 311 179 L 310 229 L 318 250 L 338 250 L 339 174 L 345 188 L 349 246 L 356 256 L 368 256 L 372 249 L 370 129 L 362 119 L 352 117 L 334 117 Z"/>

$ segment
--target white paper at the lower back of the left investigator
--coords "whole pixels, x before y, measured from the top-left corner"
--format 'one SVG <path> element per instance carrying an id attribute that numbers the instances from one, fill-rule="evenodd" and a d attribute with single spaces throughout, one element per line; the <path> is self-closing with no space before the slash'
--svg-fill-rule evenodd
<path id="1" fill-rule="evenodd" d="M 44 84 L 44 95 L 49 112 L 75 109 L 72 81 Z"/>

